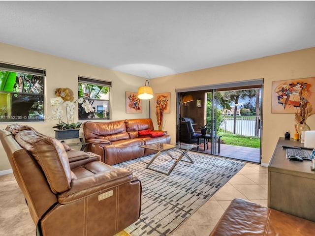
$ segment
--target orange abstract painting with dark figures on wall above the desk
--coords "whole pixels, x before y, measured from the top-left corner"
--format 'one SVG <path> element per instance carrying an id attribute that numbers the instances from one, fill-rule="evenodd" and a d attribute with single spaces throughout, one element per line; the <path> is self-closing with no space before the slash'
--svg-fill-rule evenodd
<path id="1" fill-rule="evenodd" d="M 271 113 L 296 113 L 308 104 L 315 106 L 315 77 L 272 82 Z"/>

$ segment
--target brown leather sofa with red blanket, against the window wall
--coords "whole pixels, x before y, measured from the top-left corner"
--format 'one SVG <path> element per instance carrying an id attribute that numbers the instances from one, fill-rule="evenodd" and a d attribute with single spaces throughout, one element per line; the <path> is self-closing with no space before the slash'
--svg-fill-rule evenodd
<path id="1" fill-rule="evenodd" d="M 159 137 L 140 137 L 139 131 L 150 129 L 153 132 L 163 132 Z M 166 131 L 155 131 L 152 119 L 125 119 L 111 122 L 83 123 L 86 143 L 92 152 L 101 156 L 108 165 L 114 165 L 155 151 L 139 148 L 152 143 L 170 143 L 171 137 Z"/>

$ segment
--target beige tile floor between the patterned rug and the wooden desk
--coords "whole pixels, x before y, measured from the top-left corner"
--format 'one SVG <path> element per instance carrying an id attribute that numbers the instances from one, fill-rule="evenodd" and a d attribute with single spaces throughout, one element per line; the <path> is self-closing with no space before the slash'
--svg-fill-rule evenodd
<path id="1" fill-rule="evenodd" d="M 234 198 L 267 207 L 267 167 L 246 163 L 218 192 L 188 218 L 171 236 L 209 236 Z"/>

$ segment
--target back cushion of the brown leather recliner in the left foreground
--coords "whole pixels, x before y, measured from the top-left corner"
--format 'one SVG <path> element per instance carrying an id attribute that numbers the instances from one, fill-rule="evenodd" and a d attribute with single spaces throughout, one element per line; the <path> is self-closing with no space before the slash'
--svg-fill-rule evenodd
<path id="1" fill-rule="evenodd" d="M 18 131 L 15 140 L 31 153 L 54 193 L 61 193 L 70 188 L 71 171 L 61 142 L 32 129 Z"/>

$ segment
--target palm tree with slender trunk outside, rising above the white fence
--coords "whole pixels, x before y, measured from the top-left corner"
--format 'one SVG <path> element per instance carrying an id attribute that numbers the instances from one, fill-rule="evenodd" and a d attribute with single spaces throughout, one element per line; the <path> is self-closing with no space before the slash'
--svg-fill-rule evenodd
<path id="1" fill-rule="evenodd" d="M 233 127 L 233 134 L 236 134 L 236 114 L 237 114 L 237 105 L 239 99 L 245 98 L 253 98 L 256 96 L 256 89 L 241 89 L 241 90 L 230 90 L 223 92 L 223 97 L 225 99 L 229 99 L 230 101 L 235 102 L 234 107 L 234 127 Z"/>

